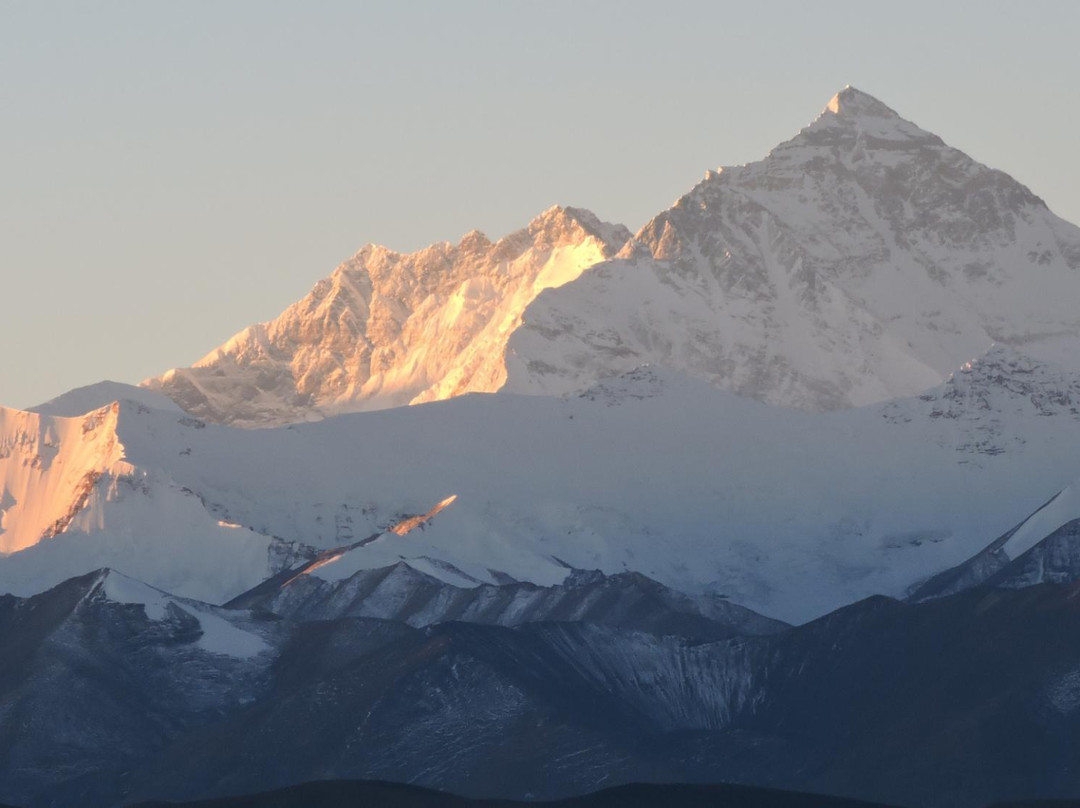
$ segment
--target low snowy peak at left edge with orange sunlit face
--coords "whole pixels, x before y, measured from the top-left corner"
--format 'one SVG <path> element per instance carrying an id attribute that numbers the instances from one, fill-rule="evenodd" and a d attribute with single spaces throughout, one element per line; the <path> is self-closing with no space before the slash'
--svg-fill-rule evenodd
<path id="1" fill-rule="evenodd" d="M 270 574 L 271 539 L 127 458 L 125 418 L 191 418 L 112 403 L 78 418 L 0 408 L 0 590 L 32 594 L 103 566 L 217 601 Z"/>

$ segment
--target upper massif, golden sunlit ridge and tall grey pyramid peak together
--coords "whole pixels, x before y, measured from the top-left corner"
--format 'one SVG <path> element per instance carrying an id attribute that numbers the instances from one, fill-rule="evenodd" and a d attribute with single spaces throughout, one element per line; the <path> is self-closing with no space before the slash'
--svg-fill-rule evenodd
<path id="1" fill-rule="evenodd" d="M 278 319 L 145 386 L 268 426 L 643 364 L 770 404 L 910 396 L 993 344 L 1080 367 L 1080 229 L 854 87 L 632 239 L 552 208 L 497 243 L 367 246 Z"/>

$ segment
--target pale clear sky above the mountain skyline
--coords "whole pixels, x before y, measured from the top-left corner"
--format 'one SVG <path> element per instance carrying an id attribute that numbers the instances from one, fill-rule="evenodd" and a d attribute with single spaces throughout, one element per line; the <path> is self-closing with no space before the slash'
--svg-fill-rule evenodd
<path id="1" fill-rule="evenodd" d="M 1080 223 L 1080 3 L 0 0 L 0 405 L 189 365 L 368 242 L 636 230 L 853 84 Z"/>

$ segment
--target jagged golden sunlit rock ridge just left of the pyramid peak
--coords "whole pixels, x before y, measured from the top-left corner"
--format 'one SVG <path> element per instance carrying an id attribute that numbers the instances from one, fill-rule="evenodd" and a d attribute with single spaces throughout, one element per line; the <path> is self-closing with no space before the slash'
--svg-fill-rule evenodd
<path id="1" fill-rule="evenodd" d="M 525 307 L 629 238 L 588 211 L 553 207 L 495 243 L 473 231 L 407 255 L 369 245 L 276 320 L 144 383 L 235 426 L 492 392 Z"/>

